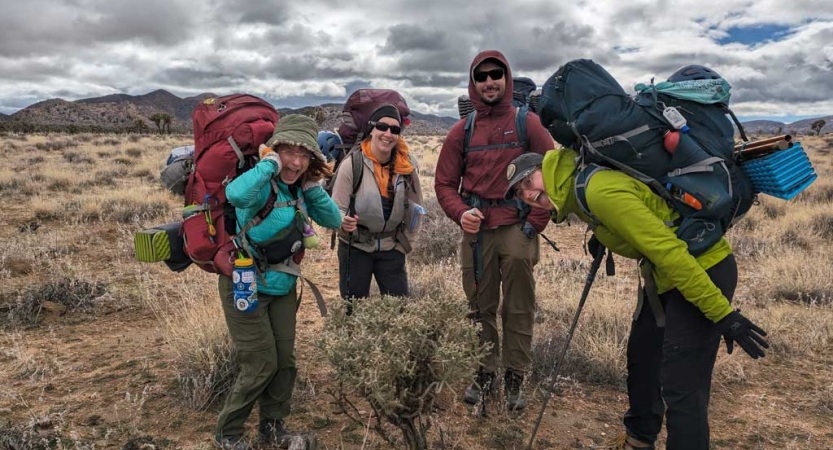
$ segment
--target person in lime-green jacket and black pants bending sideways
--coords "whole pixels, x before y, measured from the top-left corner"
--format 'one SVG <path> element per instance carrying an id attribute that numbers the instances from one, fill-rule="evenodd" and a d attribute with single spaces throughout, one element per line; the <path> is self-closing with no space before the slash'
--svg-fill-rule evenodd
<path id="1" fill-rule="evenodd" d="M 563 149 L 515 158 L 506 170 L 505 197 L 549 210 L 556 223 L 571 213 L 590 223 L 576 200 L 576 157 L 574 150 Z M 762 347 L 769 348 L 761 338 L 766 332 L 730 305 L 737 285 L 732 249 L 724 238 L 692 256 L 667 225 L 678 213 L 623 172 L 595 173 L 586 199 L 601 222 L 588 243 L 591 253 L 604 245 L 641 260 L 646 278 L 628 339 L 625 435 L 612 448 L 653 449 L 664 411 L 669 450 L 708 450 L 709 395 L 720 336 L 729 353 L 735 342 L 754 359 L 764 356 Z"/>

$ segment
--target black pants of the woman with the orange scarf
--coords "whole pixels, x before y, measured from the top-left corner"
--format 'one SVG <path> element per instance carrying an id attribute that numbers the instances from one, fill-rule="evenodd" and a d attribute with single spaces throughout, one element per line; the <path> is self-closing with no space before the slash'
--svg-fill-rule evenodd
<path id="1" fill-rule="evenodd" d="M 350 266 L 347 266 L 347 253 Z M 347 278 L 350 282 L 348 284 Z M 405 255 L 399 250 L 365 252 L 338 244 L 338 290 L 342 298 L 365 298 L 370 295 L 371 278 L 376 278 L 382 295 L 404 297 L 408 295 L 408 273 L 405 271 Z"/>

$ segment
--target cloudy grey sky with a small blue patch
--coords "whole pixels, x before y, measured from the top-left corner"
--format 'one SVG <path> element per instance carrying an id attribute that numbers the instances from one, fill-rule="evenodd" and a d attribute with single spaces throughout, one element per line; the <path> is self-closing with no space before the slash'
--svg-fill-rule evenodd
<path id="1" fill-rule="evenodd" d="M 512 5 L 512 6 L 509 6 Z M 0 112 L 166 89 L 278 107 L 393 88 L 456 115 L 478 50 L 539 85 L 591 58 L 629 92 L 711 66 L 743 119 L 833 114 L 829 0 L 0 0 Z"/>

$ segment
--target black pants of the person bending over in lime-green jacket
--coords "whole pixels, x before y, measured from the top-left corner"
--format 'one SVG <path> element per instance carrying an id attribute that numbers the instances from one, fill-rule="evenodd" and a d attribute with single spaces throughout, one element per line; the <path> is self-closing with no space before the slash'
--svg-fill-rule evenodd
<path id="1" fill-rule="evenodd" d="M 706 273 L 731 301 L 738 278 L 734 256 Z M 665 328 L 657 327 L 647 299 L 631 326 L 625 428 L 630 436 L 653 443 L 665 412 L 668 450 L 708 450 L 712 369 L 721 336 L 714 322 L 677 289 L 660 300 Z"/>

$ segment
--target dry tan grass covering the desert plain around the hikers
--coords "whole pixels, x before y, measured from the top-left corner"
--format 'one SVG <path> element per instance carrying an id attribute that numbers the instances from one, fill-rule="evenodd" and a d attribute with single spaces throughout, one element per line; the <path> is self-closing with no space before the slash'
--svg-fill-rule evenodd
<path id="1" fill-rule="evenodd" d="M 409 138 L 422 171 L 427 197 L 424 206 L 430 214 L 417 250 L 408 259 L 409 278 L 415 296 L 462 302 L 456 255 L 459 227 L 445 217 L 433 199 L 433 169 L 440 141 L 436 137 Z M 147 444 L 165 448 L 166 444 L 156 437 L 142 440 L 139 432 L 158 428 L 165 430 L 159 433 L 176 434 L 178 431 L 169 424 L 160 424 L 162 415 L 162 421 L 170 422 L 168 415 L 207 409 L 205 416 L 199 416 L 205 423 L 182 419 L 184 428 L 191 430 L 167 447 L 206 448 L 203 438 L 210 434 L 218 400 L 235 376 L 233 349 L 217 304 L 216 277 L 197 269 L 171 274 L 161 265 L 136 263 L 131 245 L 134 231 L 168 222 L 179 214 L 181 198 L 167 194 L 156 179 L 167 151 L 185 143 L 187 138 L 167 136 L 0 136 L 0 197 L 8 218 L 8 225 L 0 228 L 4 242 L 0 247 L 4 300 L 0 303 L 9 303 L 19 295 L 34 299 L 41 295 L 40 289 L 59 286 L 62 279 L 107 288 L 107 294 L 94 302 L 94 297 L 84 297 L 87 304 L 95 305 L 89 314 L 66 314 L 48 327 L 18 326 L 0 333 L 0 375 L 14 380 L 0 390 L 0 448 L 34 448 L 35 444 L 47 447 L 44 439 L 53 439 L 53 447 L 60 440 L 63 448 L 92 448 L 93 441 L 96 448 L 142 448 Z M 715 369 L 715 391 L 720 395 L 712 398 L 716 448 L 830 448 L 833 439 L 825 435 L 829 430 L 819 431 L 823 427 L 818 425 L 822 422 L 818 417 L 829 419 L 833 414 L 833 379 L 829 373 L 833 363 L 833 158 L 830 143 L 824 139 L 807 139 L 804 145 L 819 179 L 791 202 L 761 196 L 760 205 L 729 234 L 741 277 L 734 303 L 769 332 L 772 348 L 764 361 L 752 361 L 739 351 L 726 355 L 721 349 Z M 19 157 L 21 153 L 25 158 Z M 539 312 L 530 392 L 538 392 L 536 388 L 549 381 L 589 266 L 589 257 L 579 250 L 583 226 L 550 225 L 546 233 L 563 251 L 554 253 L 542 246 L 542 259 L 536 267 Z M 328 236 L 322 237 L 326 240 Z M 337 289 L 334 261 L 331 252 L 322 250 L 309 252 L 304 263 L 315 269 L 312 278 L 323 286 L 325 296 L 330 292 L 333 298 Z M 555 398 L 556 405 L 551 403 L 553 415 L 545 419 L 545 426 L 559 432 L 564 429 L 557 427 L 566 421 L 569 431 L 584 445 L 597 442 L 601 432 L 612 433 L 606 426 L 618 426 L 616 416 L 624 407 L 609 402 L 622 396 L 625 344 L 636 298 L 635 274 L 635 263 L 619 258 L 615 277 L 599 274 L 561 371 L 562 396 Z M 308 293 L 305 297 L 307 302 Z M 111 423 L 88 430 L 79 425 L 85 417 L 63 415 L 62 406 L 68 404 L 65 402 L 79 401 L 77 397 L 67 400 L 69 397 L 56 392 L 44 395 L 46 384 L 69 376 L 66 362 L 48 356 L 44 348 L 65 345 L 51 335 L 62 326 L 80 326 L 83 321 L 95 322 L 98 318 L 112 323 L 105 307 L 139 308 L 142 314 L 155 318 L 158 330 L 149 334 L 158 336 L 159 344 L 140 350 L 166 355 L 167 369 L 158 370 L 168 381 L 144 379 L 144 384 L 132 384 L 127 392 L 111 396 L 106 413 L 113 415 L 108 418 Z M 307 316 L 303 321 L 299 329 L 311 329 L 309 334 L 313 336 L 320 332 L 319 319 Z M 79 330 L 86 332 L 85 328 Z M 31 344 L 32 339 L 40 341 L 39 348 Z M 331 415 L 331 405 L 319 395 L 310 394 L 331 387 L 328 376 L 319 373 L 323 356 L 310 342 L 298 343 L 299 357 L 306 358 L 302 370 L 312 366 L 312 372 L 299 378 L 298 409 L 293 420 L 305 420 L 305 425 L 320 428 L 322 436 L 329 439 L 328 448 L 361 448 L 366 430 L 345 425 L 343 417 Z M 122 351 L 118 344 L 112 345 L 114 353 Z M 153 369 L 143 367 L 141 371 Z M 114 372 L 114 368 L 106 367 L 96 370 L 104 375 Z M 81 377 L 83 372 L 73 376 Z M 771 386 L 773 379 L 782 382 L 782 387 Z M 804 387 L 793 386 L 799 381 Z M 84 389 L 81 384 L 88 381 L 77 383 L 73 383 L 76 389 Z M 145 384 L 150 385 L 147 390 Z M 453 386 L 452 390 L 459 394 L 463 387 Z M 2 397 L 5 392 L 17 397 Z M 29 398 L 25 408 L 18 406 L 18 397 L 22 396 Z M 32 401 L 39 396 L 44 400 Z M 750 396 L 767 399 L 766 411 L 771 414 L 734 409 L 742 403 L 741 398 L 747 401 Z M 789 396 L 805 399 L 798 404 Z M 176 402 L 166 403 L 166 397 Z M 532 395 L 532 404 L 538 405 L 539 398 Z M 164 412 L 151 410 L 149 404 L 165 408 L 159 410 Z M 82 401 L 73 411 L 84 411 L 85 405 Z M 733 409 L 727 412 L 730 407 Z M 465 410 L 451 408 L 442 412 L 437 422 L 444 428 L 446 448 L 512 448 L 528 425 L 495 413 L 484 426 L 467 418 Z M 572 417 L 582 411 L 585 415 L 581 418 Z M 16 424 L 3 422 L 6 415 Z M 38 420 L 30 423 L 28 417 Z M 775 429 L 784 417 L 789 417 L 791 430 L 795 430 L 791 437 Z M 579 422 L 582 427 L 570 425 Z M 196 428 L 199 431 L 193 430 Z M 80 437 L 73 440 L 70 432 Z M 105 437 L 105 433 L 109 434 Z M 130 440 L 126 444 L 127 438 Z M 552 448 L 561 448 L 563 443 L 552 435 L 540 442 L 550 442 Z M 803 447 L 796 447 L 796 442 Z M 380 445 L 377 440 L 366 448 L 384 448 Z"/>

